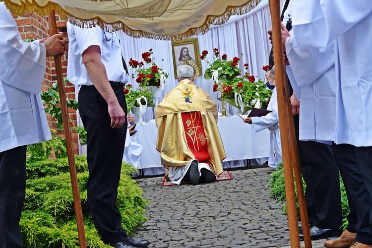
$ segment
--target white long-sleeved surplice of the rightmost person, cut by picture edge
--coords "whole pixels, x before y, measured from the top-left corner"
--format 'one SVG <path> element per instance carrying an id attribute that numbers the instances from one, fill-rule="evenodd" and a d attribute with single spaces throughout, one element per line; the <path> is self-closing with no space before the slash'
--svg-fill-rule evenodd
<path id="1" fill-rule="evenodd" d="M 372 146 L 372 4 L 370 0 L 293 0 L 296 45 L 335 41 L 336 144 Z"/>

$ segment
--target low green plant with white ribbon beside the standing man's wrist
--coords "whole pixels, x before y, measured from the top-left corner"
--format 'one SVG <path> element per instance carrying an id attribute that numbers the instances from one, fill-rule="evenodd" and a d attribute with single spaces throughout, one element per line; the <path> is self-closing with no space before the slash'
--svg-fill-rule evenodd
<path id="1" fill-rule="evenodd" d="M 132 85 L 127 84 L 123 90 L 126 101 L 126 108 L 130 110 L 141 105 L 147 105 L 148 107 L 154 107 L 154 102 L 150 90 L 146 87 L 140 87 L 136 90 L 132 90 Z M 146 99 L 146 100 L 145 100 Z"/>

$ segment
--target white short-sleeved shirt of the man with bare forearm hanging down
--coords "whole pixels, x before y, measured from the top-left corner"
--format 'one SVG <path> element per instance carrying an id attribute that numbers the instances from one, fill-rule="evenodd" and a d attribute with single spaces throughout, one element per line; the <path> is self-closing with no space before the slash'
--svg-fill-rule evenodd
<path id="1" fill-rule="evenodd" d="M 119 38 L 116 33 L 104 32 L 100 27 L 79 28 L 67 23 L 68 64 L 67 78 L 74 85 L 93 85 L 81 55 L 93 45 L 101 49 L 101 60 L 105 65 L 109 81 L 127 82 L 123 67 Z"/>

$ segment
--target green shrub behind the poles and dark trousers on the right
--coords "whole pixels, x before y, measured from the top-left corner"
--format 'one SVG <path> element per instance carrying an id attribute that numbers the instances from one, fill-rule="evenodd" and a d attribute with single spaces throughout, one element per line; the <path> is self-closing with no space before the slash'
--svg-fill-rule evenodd
<path id="1" fill-rule="evenodd" d="M 286 202 L 286 192 L 284 186 L 284 172 L 283 172 L 283 163 L 280 163 L 277 167 L 277 170 L 270 174 L 268 180 L 268 187 L 270 187 L 270 194 L 275 196 L 277 201 L 285 201 L 283 205 L 283 214 L 287 214 L 287 202 Z M 304 179 L 302 179 L 304 190 L 306 189 L 306 184 Z M 348 221 L 346 216 L 349 214 L 349 204 L 346 196 L 345 186 L 342 182 L 340 176 L 340 189 L 341 189 L 341 208 L 342 208 L 342 228 L 345 229 L 348 225 Z M 300 215 L 299 203 L 297 198 L 297 189 L 295 183 L 295 193 L 296 193 L 296 205 L 297 205 L 297 213 Z"/>

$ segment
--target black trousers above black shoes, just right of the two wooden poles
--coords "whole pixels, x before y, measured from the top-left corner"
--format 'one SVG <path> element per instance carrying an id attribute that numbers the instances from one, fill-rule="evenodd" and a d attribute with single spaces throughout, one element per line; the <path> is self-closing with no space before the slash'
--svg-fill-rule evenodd
<path id="1" fill-rule="evenodd" d="M 332 145 L 299 140 L 299 116 L 294 116 L 301 172 L 306 183 L 309 224 L 339 228 L 342 224 L 338 167 Z"/>

